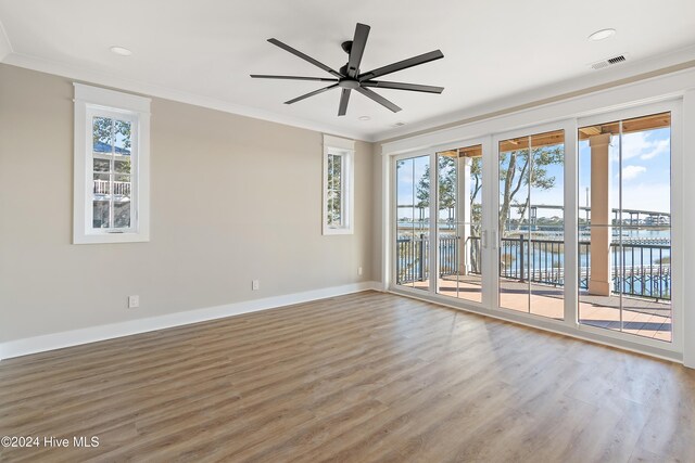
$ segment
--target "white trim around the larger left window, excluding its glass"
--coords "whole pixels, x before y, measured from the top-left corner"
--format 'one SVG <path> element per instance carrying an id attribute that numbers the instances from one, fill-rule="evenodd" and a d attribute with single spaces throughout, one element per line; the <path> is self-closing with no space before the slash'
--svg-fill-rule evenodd
<path id="1" fill-rule="evenodd" d="M 83 83 L 75 86 L 75 153 L 73 244 L 134 243 L 150 241 L 150 102 L 137 97 Z M 91 221 L 91 116 L 112 114 L 132 121 L 131 228 L 108 232 Z"/>

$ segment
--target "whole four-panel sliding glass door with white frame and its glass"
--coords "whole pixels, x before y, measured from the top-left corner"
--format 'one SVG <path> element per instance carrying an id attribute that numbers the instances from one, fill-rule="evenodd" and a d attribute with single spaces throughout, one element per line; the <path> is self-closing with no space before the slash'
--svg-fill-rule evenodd
<path id="1" fill-rule="evenodd" d="M 678 114 L 656 104 L 399 155 L 392 287 L 568 333 L 678 345 Z"/>

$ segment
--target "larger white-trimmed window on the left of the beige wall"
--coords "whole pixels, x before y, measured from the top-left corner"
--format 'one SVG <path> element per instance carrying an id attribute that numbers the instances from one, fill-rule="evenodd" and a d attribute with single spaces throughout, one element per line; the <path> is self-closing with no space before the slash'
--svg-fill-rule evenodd
<path id="1" fill-rule="evenodd" d="M 149 99 L 75 83 L 75 244 L 149 241 Z"/>

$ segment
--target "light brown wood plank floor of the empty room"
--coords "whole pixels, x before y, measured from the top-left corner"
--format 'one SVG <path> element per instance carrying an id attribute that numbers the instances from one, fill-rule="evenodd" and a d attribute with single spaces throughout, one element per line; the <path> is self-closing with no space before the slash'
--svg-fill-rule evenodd
<path id="1" fill-rule="evenodd" d="M 0 461 L 695 461 L 695 371 L 375 292 L 0 362 Z"/>

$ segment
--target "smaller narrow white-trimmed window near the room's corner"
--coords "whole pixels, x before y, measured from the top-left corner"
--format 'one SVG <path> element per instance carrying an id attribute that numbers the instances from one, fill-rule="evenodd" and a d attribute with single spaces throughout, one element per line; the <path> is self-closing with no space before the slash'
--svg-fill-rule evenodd
<path id="1" fill-rule="evenodd" d="M 324 234 L 353 232 L 354 141 L 324 136 Z"/>

